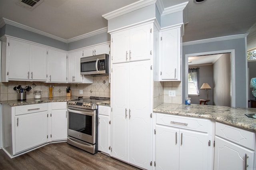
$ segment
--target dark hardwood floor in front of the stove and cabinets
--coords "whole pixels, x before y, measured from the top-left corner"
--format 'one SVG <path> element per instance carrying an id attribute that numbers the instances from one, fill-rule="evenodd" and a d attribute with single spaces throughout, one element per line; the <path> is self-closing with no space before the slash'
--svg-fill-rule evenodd
<path id="1" fill-rule="evenodd" d="M 67 144 L 52 143 L 10 158 L 0 150 L 0 170 L 138 170 L 102 153 L 90 154 Z"/>

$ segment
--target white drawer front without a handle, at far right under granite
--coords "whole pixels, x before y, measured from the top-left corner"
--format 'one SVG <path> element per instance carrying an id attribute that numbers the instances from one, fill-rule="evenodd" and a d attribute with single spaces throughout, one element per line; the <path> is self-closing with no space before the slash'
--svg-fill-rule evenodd
<path id="1" fill-rule="evenodd" d="M 229 140 L 246 148 L 250 148 L 252 150 L 255 149 L 254 132 L 216 122 L 215 134 L 216 136 L 220 136 L 226 140 Z"/>

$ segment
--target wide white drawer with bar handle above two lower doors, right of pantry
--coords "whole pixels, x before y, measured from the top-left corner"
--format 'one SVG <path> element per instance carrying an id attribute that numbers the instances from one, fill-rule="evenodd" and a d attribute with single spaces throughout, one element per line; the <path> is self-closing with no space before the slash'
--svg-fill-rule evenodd
<path id="1" fill-rule="evenodd" d="M 208 121 L 206 119 L 182 117 L 175 115 L 156 114 L 156 123 L 171 127 L 186 128 L 200 132 L 208 132 Z"/>

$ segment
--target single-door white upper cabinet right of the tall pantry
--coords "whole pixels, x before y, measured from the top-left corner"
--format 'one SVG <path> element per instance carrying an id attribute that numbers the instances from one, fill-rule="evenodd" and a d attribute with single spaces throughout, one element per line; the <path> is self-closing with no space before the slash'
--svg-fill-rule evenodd
<path id="1" fill-rule="evenodd" d="M 156 55 L 154 80 L 181 80 L 181 28 L 180 26 L 160 32 L 159 56 Z"/>

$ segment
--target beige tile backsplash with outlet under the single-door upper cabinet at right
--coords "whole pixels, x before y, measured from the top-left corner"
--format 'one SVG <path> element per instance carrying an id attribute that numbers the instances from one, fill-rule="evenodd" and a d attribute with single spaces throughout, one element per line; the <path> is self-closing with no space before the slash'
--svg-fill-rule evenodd
<path id="1" fill-rule="evenodd" d="M 180 81 L 154 81 L 154 106 L 162 103 L 182 103 L 182 83 Z M 169 97 L 168 91 L 175 90 L 176 97 Z"/>

